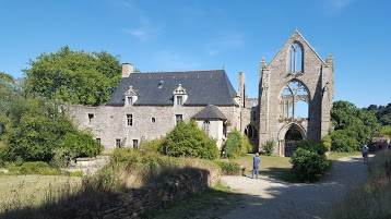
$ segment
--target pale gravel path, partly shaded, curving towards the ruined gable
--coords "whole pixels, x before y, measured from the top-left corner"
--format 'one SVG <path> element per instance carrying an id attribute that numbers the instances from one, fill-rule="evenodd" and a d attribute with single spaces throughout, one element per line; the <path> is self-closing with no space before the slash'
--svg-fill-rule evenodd
<path id="1" fill-rule="evenodd" d="M 222 183 L 242 194 L 240 205 L 222 218 L 323 218 L 331 204 L 365 182 L 362 157 L 333 162 L 330 173 L 312 184 L 285 183 L 270 178 L 222 177 Z"/>

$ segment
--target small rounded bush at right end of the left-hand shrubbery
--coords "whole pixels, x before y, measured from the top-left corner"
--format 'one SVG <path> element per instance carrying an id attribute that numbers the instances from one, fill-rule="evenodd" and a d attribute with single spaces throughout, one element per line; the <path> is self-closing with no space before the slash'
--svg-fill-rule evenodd
<path id="1" fill-rule="evenodd" d="M 104 149 L 91 133 L 83 132 L 67 133 L 60 146 L 69 151 L 70 158 L 96 157 Z"/>

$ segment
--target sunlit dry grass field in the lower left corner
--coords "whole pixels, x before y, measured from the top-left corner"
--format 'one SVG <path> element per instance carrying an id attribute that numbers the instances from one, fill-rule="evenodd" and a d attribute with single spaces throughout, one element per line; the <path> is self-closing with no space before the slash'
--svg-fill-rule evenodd
<path id="1" fill-rule="evenodd" d="M 70 192 L 81 184 L 81 178 L 63 175 L 5 175 L 0 174 L 0 212 L 38 206 L 63 190 Z"/>

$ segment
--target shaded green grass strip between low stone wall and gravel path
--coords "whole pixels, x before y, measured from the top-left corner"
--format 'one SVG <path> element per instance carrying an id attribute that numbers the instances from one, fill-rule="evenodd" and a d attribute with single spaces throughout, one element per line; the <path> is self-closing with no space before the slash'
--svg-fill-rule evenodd
<path id="1" fill-rule="evenodd" d="M 173 203 L 164 209 L 150 211 L 142 218 L 182 219 L 194 218 L 194 216 L 197 218 L 221 218 L 222 215 L 237 207 L 238 196 L 229 193 L 229 187 L 218 185 Z"/>

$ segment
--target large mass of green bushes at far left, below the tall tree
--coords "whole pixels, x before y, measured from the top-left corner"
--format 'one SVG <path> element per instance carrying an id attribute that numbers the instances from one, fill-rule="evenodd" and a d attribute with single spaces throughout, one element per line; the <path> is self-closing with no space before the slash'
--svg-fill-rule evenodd
<path id="1" fill-rule="evenodd" d="M 91 134 L 78 131 L 61 105 L 54 100 L 15 100 L 8 106 L 7 117 L 4 146 L 0 148 L 4 161 L 49 162 L 58 148 L 63 147 L 66 151 L 52 160 L 54 166 L 61 167 L 68 157 L 96 156 L 103 149 Z"/>

